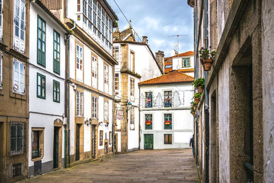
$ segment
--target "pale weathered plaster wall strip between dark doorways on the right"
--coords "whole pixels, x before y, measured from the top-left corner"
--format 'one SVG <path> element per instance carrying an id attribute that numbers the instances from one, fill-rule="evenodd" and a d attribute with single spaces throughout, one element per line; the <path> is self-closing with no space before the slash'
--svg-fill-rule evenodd
<path id="1" fill-rule="evenodd" d="M 229 62 L 219 71 L 219 169 L 220 182 L 229 182 Z"/>

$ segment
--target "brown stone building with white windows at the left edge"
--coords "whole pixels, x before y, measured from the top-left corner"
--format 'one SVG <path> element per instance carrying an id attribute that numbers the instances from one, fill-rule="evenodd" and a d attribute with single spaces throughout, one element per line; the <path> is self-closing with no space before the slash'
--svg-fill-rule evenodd
<path id="1" fill-rule="evenodd" d="M 29 1 L 0 1 L 0 182 L 27 177 Z"/>

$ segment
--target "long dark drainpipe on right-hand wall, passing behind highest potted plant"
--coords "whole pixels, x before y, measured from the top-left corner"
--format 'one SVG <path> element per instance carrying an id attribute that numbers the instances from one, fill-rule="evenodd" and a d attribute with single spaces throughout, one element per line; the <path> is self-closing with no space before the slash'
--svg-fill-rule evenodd
<path id="1" fill-rule="evenodd" d="M 204 10 L 204 38 L 205 38 L 205 47 L 208 49 L 208 0 L 203 1 L 203 10 Z M 205 71 L 205 81 L 208 80 L 208 71 Z M 206 88 L 206 82 L 205 82 L 205 119 L 206 119 L 206 182 L 209 181 L 209 147 L 210 147 L 210 133 L 209 133 L 209 111 L 208 111 L 208 89 Z"/>

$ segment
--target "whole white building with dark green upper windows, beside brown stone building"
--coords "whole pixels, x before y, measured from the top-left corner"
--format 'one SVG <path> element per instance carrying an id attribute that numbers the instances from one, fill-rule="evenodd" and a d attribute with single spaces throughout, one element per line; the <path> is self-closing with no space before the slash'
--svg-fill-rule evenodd
<path id="1" fill-rule="evenodd" d="M 29 9 L 29 176 L 64 165 L 65 34 L 42 3 Z"/>

